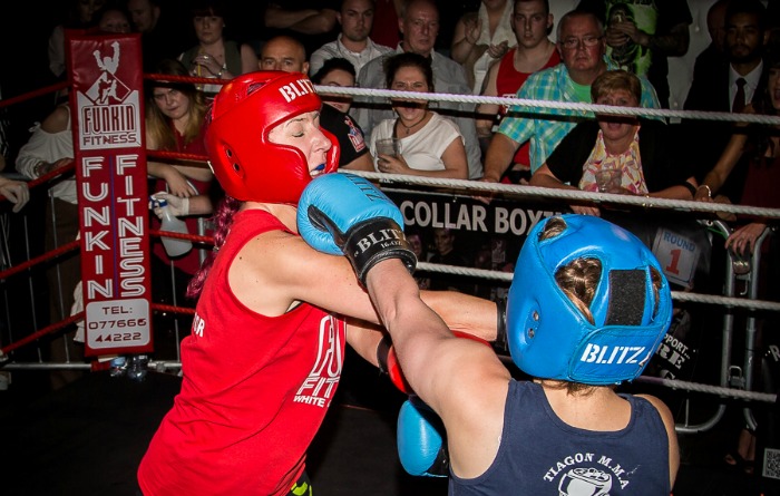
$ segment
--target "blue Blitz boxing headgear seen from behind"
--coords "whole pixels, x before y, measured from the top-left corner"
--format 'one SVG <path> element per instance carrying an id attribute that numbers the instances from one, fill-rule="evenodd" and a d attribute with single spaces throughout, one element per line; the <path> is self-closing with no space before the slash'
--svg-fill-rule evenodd
<path id="1" fill-rule="evenodd" d="M 599 217 L 567 214 L 559 216 L 566 224 L 563 232 L 542 240 L 550 218 L 528 234 L 509 289 L 513 360 L 542 379 L 594 386 L 633 380 L 672 320 L 669 281 L 653 253 L 626 230 Z M 583 257 L 602 265 L 589 304 L 594 324 L 555 279 L 558 269 Z M 657 296 L 651 268 L 661 280 Z"/>

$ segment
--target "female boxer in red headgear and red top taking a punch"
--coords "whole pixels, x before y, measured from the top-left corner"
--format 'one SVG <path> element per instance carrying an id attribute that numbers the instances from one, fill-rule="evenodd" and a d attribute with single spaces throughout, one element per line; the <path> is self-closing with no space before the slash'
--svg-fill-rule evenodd
<path id="1" fill-rule="evenodd" d="M 182 390 L 138 469 L 147 496 L 310 494 L 305 453 L 345 343 L 377 364 L 379 318 L 349 261 L 313 250 L 295 225 L 303 188 L 339 159 L 320 106 L 305 76 L 279 71 L 240 76 L 214 99 L 206 147 L 226 198 L 189 288 Z M 495 338 L 493 302 L 422 296 L 450 327 Z"/>

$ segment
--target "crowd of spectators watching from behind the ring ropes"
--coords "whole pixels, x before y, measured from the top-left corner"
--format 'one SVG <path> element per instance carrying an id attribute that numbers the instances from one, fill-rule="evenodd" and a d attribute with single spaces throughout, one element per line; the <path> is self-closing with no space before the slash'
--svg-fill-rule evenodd
<path id="1" fill-rule="evenodd" d="M 254 70 L 302 72 L 323 86 L 670 108 L 670 67 L 689 56 L 695 64 L 688 68 L 684 109 L 773 116 L 780 109 L 780 0 L 43 0 L 17 7 L 35 9 L 20 18 L 35 12 L 39 21 L 23 35 L 3 30 L 0 60 L 16 68 L 0 75 L 4 98 L 67 78 L 68 30 L 137 32 L 145 72 L 215 79 L 197 90 L 148 86 L 149 149 L 205 154 L 201 117 L 208 100 L 224 80 Z M 691 54 L 699 25 L 710 42 Z M 344 168 L 778 206 L 771 187 L 780 177 L 780 143 L 777 129 L 764 126 L 379 97 L 323 100 L 322 126 L 340 143 Z M 184 115 L 185 107 L 192 113 Z M 72 159 L 71 117 L 61 98 L 39 97 L 0 117 L 4 173 L 36 178 Z M 380 156 L 377 142 L 386 138 L 400 140 L 396 156 Z M 598 177 L 607 168 L 618 171 L 617 184 L 602 188 Z M 176 196 L 192 197 L 183 216 L 207 214 L 211 174 L 188 173 L 149 163 L 155 191 L 166 191 L 173 204 Z M 72 178 L 50 188 L 59 217 L 47 223 L 57 228 L 46 234 L 48 250 L 52 237 L 77 235 L 75 189 Z M 29 197 L 23 183 L 7 177 L 0 177 L 0 193 L 16 204 L 13 212 Z M 194 207 L 197 196 L 205 207 Z M 603 213 L 576 202 L 571 210 Z M 768 223 L 730 221 L 734 232 L 724 247 L 744 256 Z M 460 253 L 457 239 L 437 230 L 418 244 L 432 252 L 431 262 L 477 260 Z M 654 244 L 652 235 L 646 243 Z M 487 260 L 490 246 L 481 247 Z M 764 260 L 776 260 L 779 243 L 764 250 L 773 256 Z M 155 253 L 164 257 L 159 246 Z M 194 256 L 191 266 L 179 261 L 183 282 L 197 268 Z M 72 285 L 78 260 L 66 262 L 49 278 Z M 763 276 L 777 275 L 778 265 L 764 262 Z M 443 278 L 418 282 L 468 291 Z M 777 299 L 777 291 L 762 291 Z M 65 318 L 69 308 L 69 301 L 52 302 L 51 319 Z"/>

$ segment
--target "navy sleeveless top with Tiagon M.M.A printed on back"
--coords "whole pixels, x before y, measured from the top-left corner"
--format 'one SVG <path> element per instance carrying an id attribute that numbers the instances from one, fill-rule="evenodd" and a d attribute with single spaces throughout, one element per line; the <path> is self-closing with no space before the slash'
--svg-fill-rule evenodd
<path id="1" fill-rule="evenodd" d="M 661 415 L 644 398 L 621 397 L 631 403 L 625 429 L 584 430 L 555 415 L 542 386 L 513 380 L 496 459 L 472 479 L 450 474 L 450 496 L 669 496 L 669 438 Z"/>

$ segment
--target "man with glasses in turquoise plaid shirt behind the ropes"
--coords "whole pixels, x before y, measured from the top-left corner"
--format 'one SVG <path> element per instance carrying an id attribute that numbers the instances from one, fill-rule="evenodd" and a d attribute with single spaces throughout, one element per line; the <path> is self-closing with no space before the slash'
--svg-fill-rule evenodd
<path id="1" fill-rule="evenodd" d="M 558 22 L 557 46 L 562 62 L 556 67 L 532 75 L 517 91 L 518 98 L 568 103 L 591 103 L 591 84 L 611 67 L 605 58 L 604 28 L 598 19 L 576 10 Z M 642 80 L 642 101 L 645 108 L 659 108 L 655 89 Z M 524 111 L 514 106 L 501 119 L 485 156 L 482 181 L 498 183 L 511 165 L 517 148 L 530 139 L 530 172 L 545 163 L 549 154 L 574 126 L 588 117 L 589 111 L 543 109 L 544 114 Z"/>

